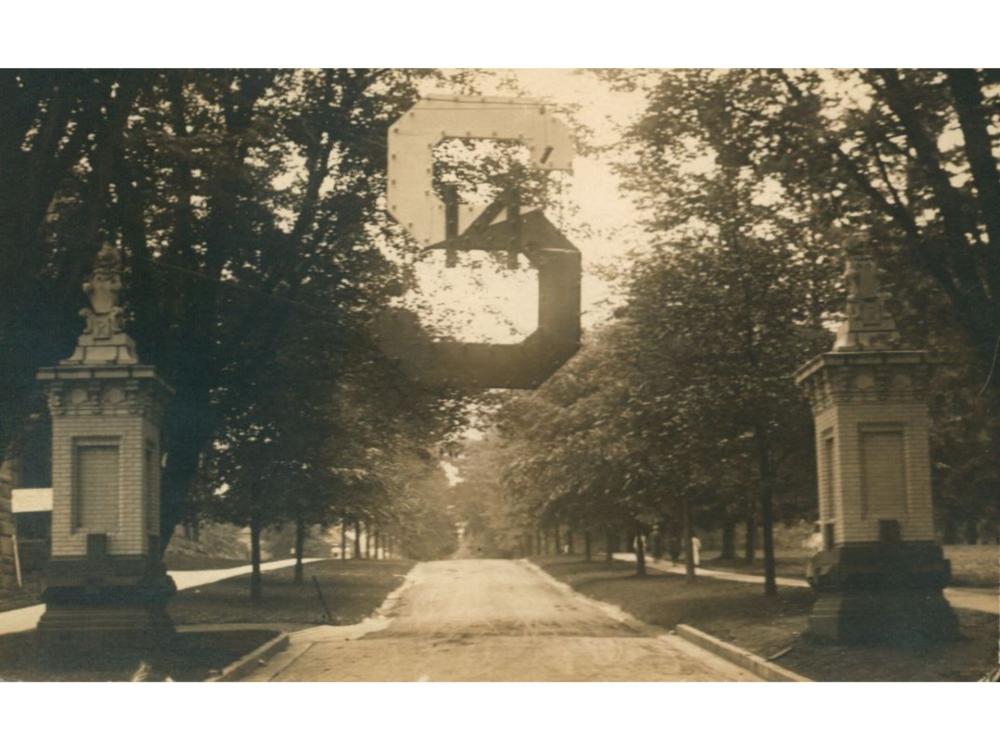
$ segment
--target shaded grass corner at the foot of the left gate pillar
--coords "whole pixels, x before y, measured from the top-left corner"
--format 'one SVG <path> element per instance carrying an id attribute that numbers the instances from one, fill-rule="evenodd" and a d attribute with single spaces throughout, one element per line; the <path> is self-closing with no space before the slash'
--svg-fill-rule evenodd
<path id="1" fill-rule="evenodd" d="M 0 636 L 0 681 L 201 682 L 279 632 L 246 629 L 179 633 L 169 647 L 156 651 L 102 652 L 99 656 L 58 661 L 37 647 L 34 632 L 14 633 Z"/>

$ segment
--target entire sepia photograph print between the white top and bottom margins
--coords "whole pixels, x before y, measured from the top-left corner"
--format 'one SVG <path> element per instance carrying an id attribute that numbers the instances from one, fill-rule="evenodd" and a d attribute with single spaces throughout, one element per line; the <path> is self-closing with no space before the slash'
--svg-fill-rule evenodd
<path id="1" fill-rule="evenodd" d="M 997 69 L 13 57 L 0 681 L 1000 680 Z"/>

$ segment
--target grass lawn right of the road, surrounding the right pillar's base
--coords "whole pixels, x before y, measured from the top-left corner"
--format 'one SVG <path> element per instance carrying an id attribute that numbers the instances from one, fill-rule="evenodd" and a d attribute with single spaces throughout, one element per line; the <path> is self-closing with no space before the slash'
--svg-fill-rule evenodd
<path id="1" fill-rule="evenodd" d="M 717 638 L 822 681 L 970 681 L 997 666 L 998 618 L 956 610 L 962 638 L 923 647 L 839 646 L 803 634 L 814 600 L 810 589 L 763 587 L 702 578 L 694 584 L 670 573 L 634 575 L 634 565 L 587 563 L 580 558 L 538 558 L 548 573 L 586 596 L 617 604 L 640 620 L 670 629 L 692 625 Z"/>

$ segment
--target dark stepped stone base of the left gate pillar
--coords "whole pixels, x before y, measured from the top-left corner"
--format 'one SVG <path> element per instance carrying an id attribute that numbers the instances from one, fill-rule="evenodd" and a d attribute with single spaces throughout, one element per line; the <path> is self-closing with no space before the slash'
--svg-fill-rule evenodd
<path id="1" fill-rule="evenodd" d="M 48 577 L 37 631 L 48 651 L 147 650 L 174 635 L 167 600 L 176 587 L 159 563 L 53 558 Z"/>

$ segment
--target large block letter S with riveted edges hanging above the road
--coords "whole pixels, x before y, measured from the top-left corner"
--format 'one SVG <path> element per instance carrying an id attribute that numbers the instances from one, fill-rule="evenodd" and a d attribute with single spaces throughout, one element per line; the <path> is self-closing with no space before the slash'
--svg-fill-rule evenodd
<path id="1" fill-rule="evenodd" d="M 447 206 L 432 185 L 434 146 L 447 138 L 520 142 L 534 168 L 569 171 L 569 130 L 541 102 L 494 97 L 422 99 L 389 128 L 389 211 L 425 248 L 526 256 L 538 271 L 538 328 L 517 344 L 434 341 L 412 313 L 395 311 L 380 323 L 382 348 L 429 385 L 536 388 L 580 346 L 580 252 L 516 196 L 485 210 Z"/>

